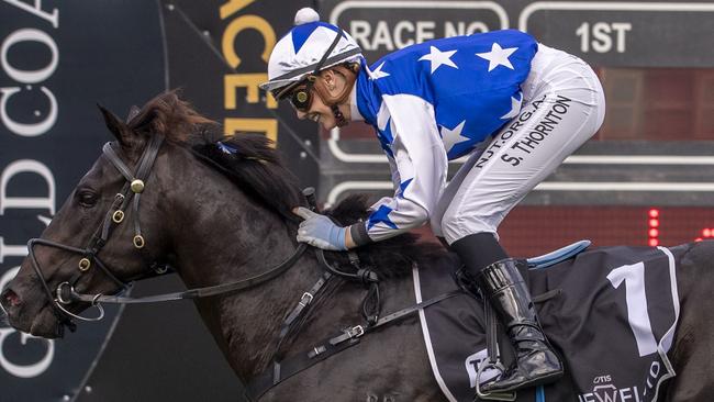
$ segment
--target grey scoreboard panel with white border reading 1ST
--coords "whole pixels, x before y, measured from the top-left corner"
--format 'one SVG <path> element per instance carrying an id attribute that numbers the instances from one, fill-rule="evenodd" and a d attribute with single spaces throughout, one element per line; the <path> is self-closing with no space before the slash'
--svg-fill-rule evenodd
<path id="1" fill-rule="evenodd" d="M 714 2 L 536 1 L 517 22 L 598 66 L 714 66 Z"/>

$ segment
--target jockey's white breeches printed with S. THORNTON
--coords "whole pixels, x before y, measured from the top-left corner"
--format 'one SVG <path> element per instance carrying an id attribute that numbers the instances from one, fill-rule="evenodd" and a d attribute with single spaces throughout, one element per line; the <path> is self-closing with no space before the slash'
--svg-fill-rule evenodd
<path id="1" fill-rule="evenodd" d="M 600 80 L 576 56 L 538 45 L 521 88 L 520 114 L 471 154 L 432 213 L 434 233 L 448 244 L 482 232 L 498 238 L 509 211 L 603 122 Z"/>

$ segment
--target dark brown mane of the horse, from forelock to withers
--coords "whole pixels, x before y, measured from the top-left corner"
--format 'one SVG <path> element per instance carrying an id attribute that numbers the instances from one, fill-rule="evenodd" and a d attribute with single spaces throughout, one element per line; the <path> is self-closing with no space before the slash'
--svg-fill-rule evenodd
<path id="1" fill-rule="evenodd" d="M 176 91 L 161 93 L 134 111 L 127 125 L 137 133 L 161 134 L 168 141 L 187 145 L 199 160 L 283 216 L 292 216 L 292 209 L 304 204 L 299 180 L 287 169 L 272 141 L 261 134 L 224 135 L 217 123 L 199 114 Z M 344 226 L 364 221 L 369 215 L 367 196 L 347 197 L 324 213 Z M 357 252 L 362 263 L 377 267 L 382 277 L 401 277 L 411 273 L 412 261 L 446 255 L 440 245 L 417 239 L 417 235 L 405 233 Z M 344 253 L 330 254 L 331 259 L 348 265 Z"/>

